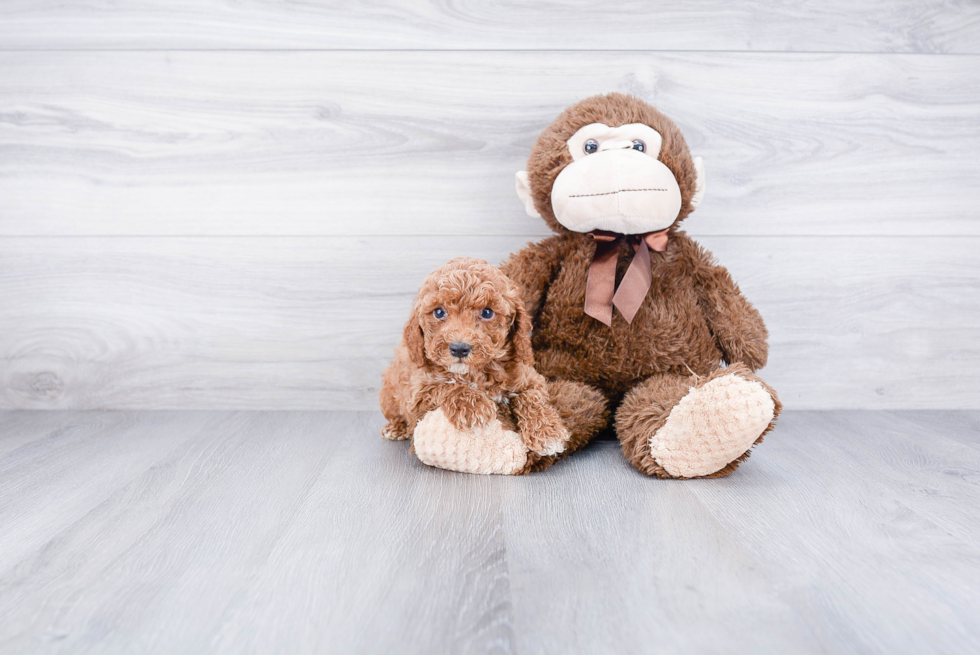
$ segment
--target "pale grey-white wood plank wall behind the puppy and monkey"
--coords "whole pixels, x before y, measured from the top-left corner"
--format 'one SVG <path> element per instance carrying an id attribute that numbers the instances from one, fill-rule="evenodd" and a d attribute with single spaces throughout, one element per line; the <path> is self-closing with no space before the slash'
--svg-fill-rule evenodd
<path id="1" fill-rule="evenodd" d="M 0 407 L 376 407 L 613 90 L 705 158 L 787 407 L 980 408 L 980 5 L 912 0 L 3 3 Z"/>

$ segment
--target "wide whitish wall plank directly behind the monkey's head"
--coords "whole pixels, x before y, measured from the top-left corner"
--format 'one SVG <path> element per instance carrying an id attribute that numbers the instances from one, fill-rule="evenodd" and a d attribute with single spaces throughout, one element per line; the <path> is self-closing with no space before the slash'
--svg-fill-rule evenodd
<path id="1" fill-rule="evenodd" d="M 296 5 L 277 5 L 296 6 Z M 514 172 L 634 93 L 705 158 L 695 234 L 980 235 L 980 58 L 0 53 L 0 235 L 543 235 Z"/>

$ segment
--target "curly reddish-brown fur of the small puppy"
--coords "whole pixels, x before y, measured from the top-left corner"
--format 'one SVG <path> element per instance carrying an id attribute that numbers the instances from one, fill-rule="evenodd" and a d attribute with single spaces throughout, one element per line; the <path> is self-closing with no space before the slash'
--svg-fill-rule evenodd
<path id="1" fill-rule="evenodd" d="M 446 312 L 441 319 L 433 314 L 437 308 Z M 492 318 L 481 317 L 485 308 L 493 310 Z M 460 429 L 498 418 L 531 450 L 527 470 L 546 468 L 556 459 L 551 453 L 566 448 L 568 432 L 545 379 L 534 370 L 530 331 L 520 291 L 496 267 L 459 257 L 434 271 L 382 376 L 381 409 L 388 419 L 382 435 L 407 439 L 419 420 L 440 407 Z M 455 357 L 453 343 L 472 350 Z M 572 435 L 572 446 L 580 441 Z"/>

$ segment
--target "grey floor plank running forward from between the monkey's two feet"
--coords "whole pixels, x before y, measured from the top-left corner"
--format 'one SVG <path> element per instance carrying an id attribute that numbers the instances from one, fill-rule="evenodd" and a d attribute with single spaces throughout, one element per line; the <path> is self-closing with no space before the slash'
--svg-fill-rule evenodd
<path id="1" fill-rule="evenodd" d="M 689 486 L 643 476 L 612 441 L 561 466 L 506 485 L 519 652 L 826 652 Z"/>

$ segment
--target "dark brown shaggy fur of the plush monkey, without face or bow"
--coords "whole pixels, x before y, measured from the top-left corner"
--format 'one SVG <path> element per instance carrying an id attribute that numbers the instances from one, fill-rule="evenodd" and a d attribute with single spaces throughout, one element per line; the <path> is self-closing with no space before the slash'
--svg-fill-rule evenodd
<path id="1" fill-rule="evenodd" d="M 660 160 L 677 178 L 682 198 L 667 251 L 651 255 L 653 284 L 646 300 L 632 323 L 616 312 L 611 327 L 583 312 L 595 242 L 559 224 L 551 207 L 555 178 L 572 161 L 566 141 L 596 122 L 645 123 L 657 130 L 663 136 Z M 545 129 L 531 152 L 528 176 L 535 207 L 556 235 L 529 244 L 502 268 L 521 287 L 533 317 L 537 369 L 553 384 L 574 382 L 596 392 L 588 399 L 581 387 L 574 398 L 553 394 L 563 415 L 573 411 L 566 402 L 592 418 L 607 417 L 609 405 L 616 407 L 615 427 L 630 462 L 649 475 L 671 477 L 649 453 L 649 438 L 670 410 L 691 388 L 713 377 L 738 373 L 758 380 L 751 372 L 765 366 L 768 355 L 768 333 L 759 313 L 728 271 L 678 229 L 693 209 L 697 180 L 687 143 L 669 118 L 645 102 L 618 93 L 595 96 L 566 109 Z M 621 243 L 617 284 L 632 255 L 632 247 Z M 723 361 L 730 368 L 722 368 Z M 766 389 L 778 416 L 781 405 Z M 593 420 L 588 429 L 594 436 L 606 425 L 607 419 Z M 706 477 L 731 473 L 747 456 Z"/>

